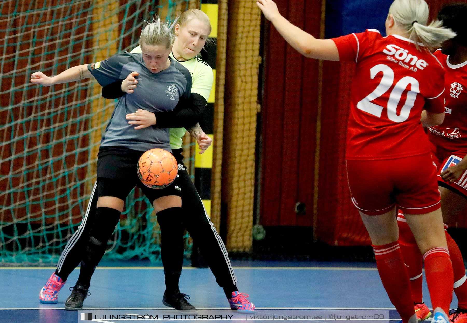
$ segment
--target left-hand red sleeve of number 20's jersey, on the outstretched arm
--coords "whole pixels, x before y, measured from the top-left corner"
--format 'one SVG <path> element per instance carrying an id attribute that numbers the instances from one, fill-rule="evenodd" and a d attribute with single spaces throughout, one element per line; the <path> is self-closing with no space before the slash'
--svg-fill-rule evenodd
<path id="1" fill-rule="evenodd" d="M 331 39 L 337 46 L 340 61 L 359 62 L 378 37 L 381 37 L 378 30 L 367 29 L 363 33 L 348 34 Z"/>

